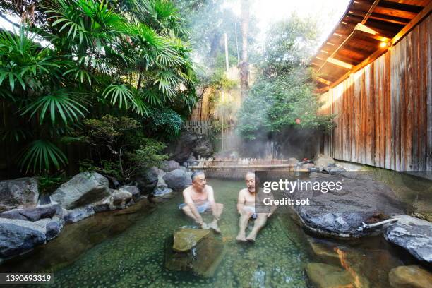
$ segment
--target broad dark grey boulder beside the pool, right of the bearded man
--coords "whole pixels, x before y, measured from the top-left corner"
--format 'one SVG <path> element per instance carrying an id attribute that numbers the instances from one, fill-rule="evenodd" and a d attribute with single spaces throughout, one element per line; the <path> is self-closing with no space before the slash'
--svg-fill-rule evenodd
<path id="1" fill-rule="evenodd" d="M 373 229 L 359 230 L 361 223 L 377 217 L 403 214 L 403 206 L 395 193 L 384 184 L 371 179 L 347 179 L 328 174 L 311 173 L 313 184 L 337 182 L 342 190 L 322 193 L 300 190 L 292 194 L 294 200 L 309 199 L 309 205 L 294 205 L 294 211 L 305 227 L 316 234 L 338 237 L 369 236 Z M 376 222 L 376 221 L 375 221 Z"/>

